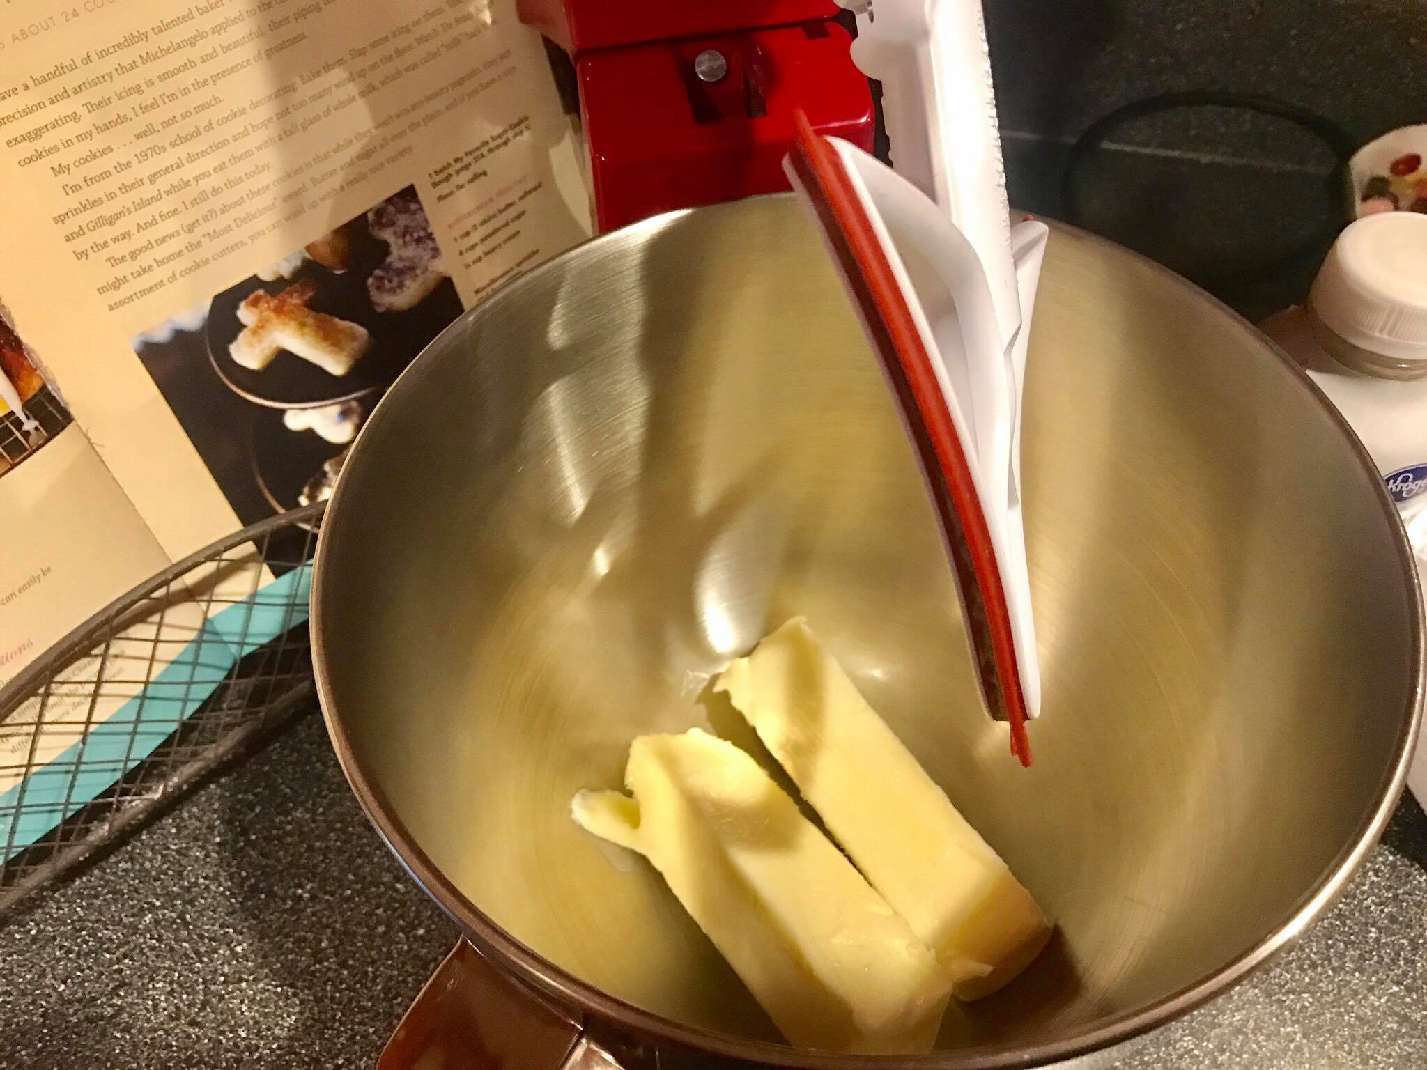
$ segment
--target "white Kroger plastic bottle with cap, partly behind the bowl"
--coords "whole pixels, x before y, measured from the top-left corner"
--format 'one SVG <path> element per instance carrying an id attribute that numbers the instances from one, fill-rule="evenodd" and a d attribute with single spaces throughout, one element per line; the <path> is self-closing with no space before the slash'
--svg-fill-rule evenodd
<path id="1" fill-rule="evenodd" d="M 1304 305 L 1261 330 L 1337 405 L 1427 552 L 1427 215 L 1383 213 L 1339 235 Z"/>

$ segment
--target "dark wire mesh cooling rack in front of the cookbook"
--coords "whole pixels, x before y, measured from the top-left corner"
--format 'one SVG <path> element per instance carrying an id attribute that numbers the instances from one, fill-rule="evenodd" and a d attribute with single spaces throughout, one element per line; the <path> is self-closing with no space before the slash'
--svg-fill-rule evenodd
<path id="1" fill-rule="evenodd" d="M 0 689 L 0 923 L 311 699 L 307 592 L 324 508 L 174 564 Z"/>

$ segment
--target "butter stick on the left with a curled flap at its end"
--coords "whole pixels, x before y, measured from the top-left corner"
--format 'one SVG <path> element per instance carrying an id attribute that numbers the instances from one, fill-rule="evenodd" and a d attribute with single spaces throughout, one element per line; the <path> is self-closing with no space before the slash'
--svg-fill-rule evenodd
<path id="1" fill-rule="evenodd" d="M 639 736 L 625 785 L 572 816 L 649 859 L 791 1043 L 930 1050 L 950 979 L 752 758 L 699 729 Z"/>

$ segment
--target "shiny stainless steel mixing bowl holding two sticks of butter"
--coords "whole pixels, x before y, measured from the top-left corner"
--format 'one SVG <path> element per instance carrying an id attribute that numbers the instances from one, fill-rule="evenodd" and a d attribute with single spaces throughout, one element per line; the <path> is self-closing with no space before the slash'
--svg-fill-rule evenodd
<path id="1" fill-rule="evenodd" d="M 1421 698 L 1381 481 L 1247 324 L 1085 234 L 1052 237 L 1029 368 L 1025 770 L 972 699 L 910 448 L 793 200 L 602 237 L 431 345 L 327 514 L 314 642 L 348 778 L 478 949 L 625 1034 L 876 1061 L 783 1047 L 661 879 L 568 816 L 641 732 L 738 735 L 708 676 L 795 613 L 1060 927 L 902 1063 L 1104 1049 L 1324 909 Z"/>

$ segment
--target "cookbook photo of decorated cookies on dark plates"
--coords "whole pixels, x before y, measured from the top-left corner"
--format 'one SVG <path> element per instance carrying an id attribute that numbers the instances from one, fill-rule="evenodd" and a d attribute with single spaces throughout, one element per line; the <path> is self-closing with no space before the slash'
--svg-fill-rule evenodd
<path id="1" fill-rule="evenodd" d="M 462 312 L 411 185 L 134 350 L 244 524 L 323 501 L 372 407 Z"/>

